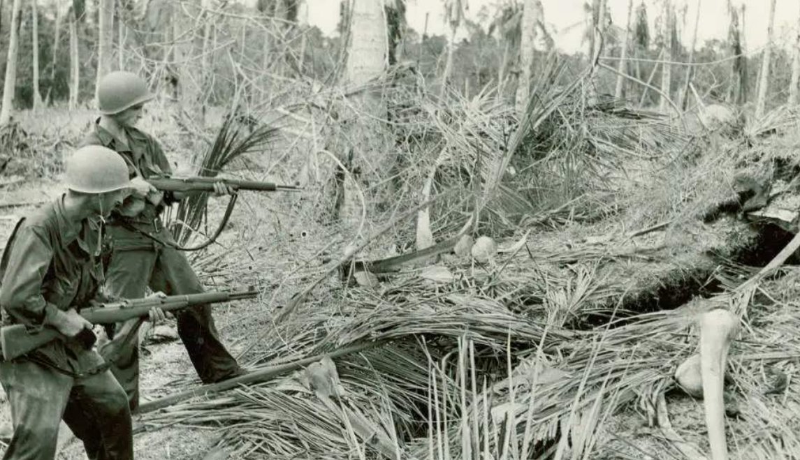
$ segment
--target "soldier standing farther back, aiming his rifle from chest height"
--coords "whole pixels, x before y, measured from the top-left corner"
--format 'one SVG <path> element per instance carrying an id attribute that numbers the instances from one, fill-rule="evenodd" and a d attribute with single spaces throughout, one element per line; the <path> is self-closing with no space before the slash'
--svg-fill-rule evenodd
<path id="1" fill-rule="evenodd" d="M 112 72 L 98 85 L 101 116 L 82 145 L 102 145 L 117 152 L 127 163 L 130 177 L 137 183 L 150 176 L 169 175 L 170 164 L 161 145 L 135 128 L 142 105 L 154 96 L 141 77 L 130 72 Z M 217 195 L 232 193 L 225 184 L 214 185 Z M 112 251 L 106 268 L 106 283 L 111 295 L 138 299 L 146 287 L 166 295 L 194 294 L 203 291 L 197 275 L 173 247 L 174 240 L 164 228 L 160 214 L 166 204 L 180 200 L 178 193 L 162 193 L 151 187 L 135 192 L 114 212 L 108 222 Z M 214 383 L 242 375 L 242 368 L 219 339 L 210 305 L 186 309 L 176 314 L 180 335 L 194 369 L 203 383 Z M 138 330 L 141 320 L 118 324 L 110 335 L 109 347 L 100 353 L 118 356 L 111 371 L 125 389 L 131 410 L 138 407 L 138 347 L 136 341 L 118 352 L 114 343 Z"/>

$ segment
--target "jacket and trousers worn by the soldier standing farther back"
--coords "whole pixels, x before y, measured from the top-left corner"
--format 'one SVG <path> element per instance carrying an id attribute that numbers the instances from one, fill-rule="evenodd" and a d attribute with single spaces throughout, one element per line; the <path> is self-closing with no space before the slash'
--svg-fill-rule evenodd
<path id="1" fill-rule="evenodd" d="M 170 164 L 158 141 L 134 128 L 122 128 L 128 138 L 123 144 L 95 122 L 92 132 L 82 145 L 102 145 L 125 159 L 130 177 L 169 174 Z M 152 198 L 152 197 L 151 197 Z M 161 199 L 163 198 L 163 199 Z M 166 295 L 195 294 L 203 291 L 202 284 L 190 267 L 186 256 L 178 250 L 160 244 L 158 240 L 174 242 L 164 228 L 161 217 L 163 204 L 173 203 L 170 194 L 147 200 L 129 196 L 119 212 L 108 221 L 112 250 L 106 267 L 106 283 L 110 295 L 126 299 L 145 296 L 146 287 Z M 210 305 L 188 308 L 176 314 L 180 335 L 194 369 L 203 383 L 214 383 L 242 374 L 236 359 L 219 339 Z M 138 407 L 138 347 L 134 342 L 115 360 L 111 371 L 125 389 L 130 408 Z"/>

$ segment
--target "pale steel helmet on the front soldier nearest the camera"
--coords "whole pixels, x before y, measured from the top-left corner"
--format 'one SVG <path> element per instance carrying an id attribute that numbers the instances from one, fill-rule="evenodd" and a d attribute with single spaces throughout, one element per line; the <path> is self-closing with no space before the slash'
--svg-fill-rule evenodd
<path id="1" fill-rule="evenodd" d="M 81 147 L 66 160 L 66 187 L 74 192 L 106 193 L 131 188 L 128 165 L 101 145 Z"/>

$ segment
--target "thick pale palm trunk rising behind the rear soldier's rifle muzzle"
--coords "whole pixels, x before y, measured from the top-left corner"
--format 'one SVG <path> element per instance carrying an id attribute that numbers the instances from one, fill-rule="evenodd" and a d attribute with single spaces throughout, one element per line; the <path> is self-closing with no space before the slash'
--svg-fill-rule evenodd
<path id="1" fill-rule="evenodd" d="M 350 14 L 350 50 L 345 64 L 345 78 L 350 86 L 366 85 L 374 78 L 380 77 L 386 68 L 386 21 L 383 14 L 382 0 L 353 0 Z M 361 161 L 371 152 L 386 152 L 382 145 L 381 129 L 375 126 L 375 119 L 386 116 L 386 107 L 381 95 L 372 89 L 366 89 L 354 97 L 360 103 L 358 122 L 350 124 L 350 138 L 358 139 L 358 145 L 342 145 L 340 155 L 342 163 L 349 169 L 349 176 L 343 180 L 342 202 L 339 206 L 339 218 L 350 228 L 356 228 L 361 220 L 362 209 L 359 200 L 357 176 L 354 171 L 360 169 L 362 175 L 378 175 L 388 172 L 394 161 L 390 158 L 370 158 Z M 366 115 L 366 116 L 365 116 Z M 355 114 L 353 114 L 355 116 Z M 374 117 L 374 118 L 373 118 Z M 368 170 L 368 165 L 378 169 Z M 363 210 L 366 212 L 366 209 Z"/>

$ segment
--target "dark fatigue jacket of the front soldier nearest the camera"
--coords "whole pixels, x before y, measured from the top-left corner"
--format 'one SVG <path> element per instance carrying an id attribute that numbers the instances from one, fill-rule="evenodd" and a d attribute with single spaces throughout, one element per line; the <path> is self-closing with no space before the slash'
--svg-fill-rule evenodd
<path id="1" fill-rule="evenodd" d="M 2 323 L 22 323 L 35 331 L 58 310 L 107 300 L 100 290 L 102 237 L 99 223 L 69 220 L 64 195 L 22 218 L 0 263 Z M 74 340 L 54 340 L 34 353 L 54 367 L 76 374 L 102 364 L 99 355 L 86 353 Z"/>

